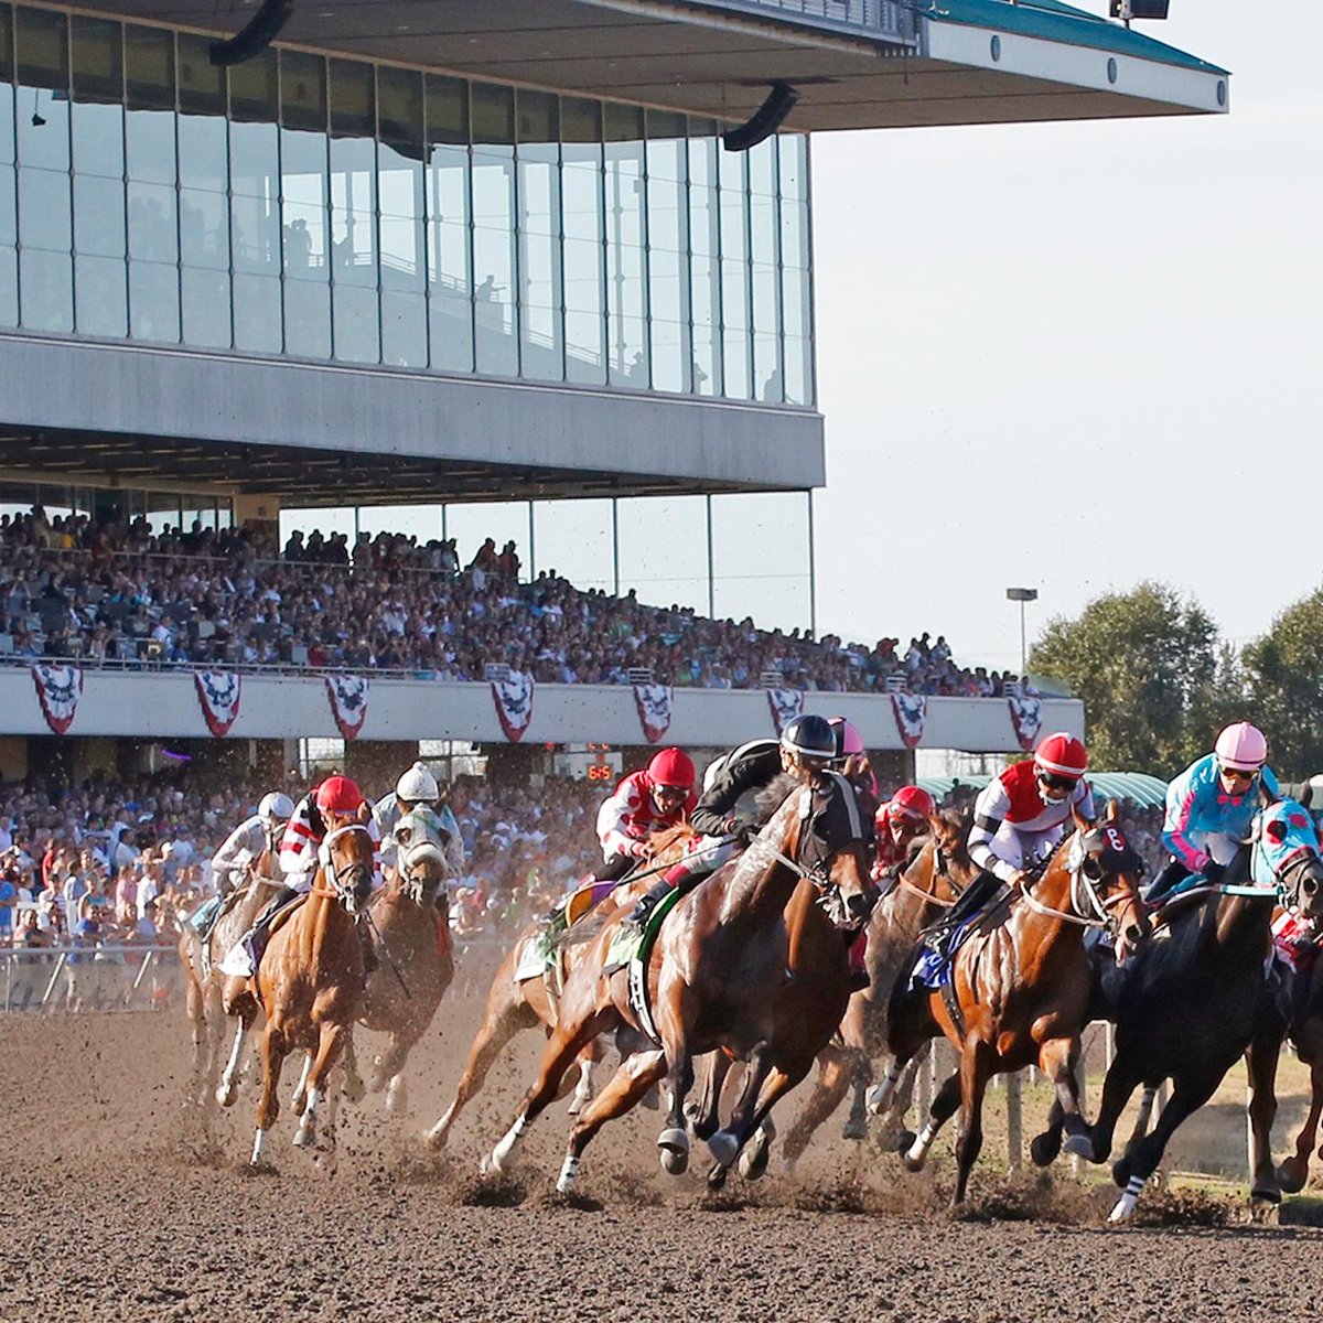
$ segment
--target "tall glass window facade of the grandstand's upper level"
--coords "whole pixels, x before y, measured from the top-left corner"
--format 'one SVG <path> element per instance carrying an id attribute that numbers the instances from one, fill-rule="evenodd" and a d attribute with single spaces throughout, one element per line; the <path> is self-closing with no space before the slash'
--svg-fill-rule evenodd
<path id="1" fill-rule="evenodd" d="M 807 142 L 0 3 L 0 327 L 811 405 Z"/>

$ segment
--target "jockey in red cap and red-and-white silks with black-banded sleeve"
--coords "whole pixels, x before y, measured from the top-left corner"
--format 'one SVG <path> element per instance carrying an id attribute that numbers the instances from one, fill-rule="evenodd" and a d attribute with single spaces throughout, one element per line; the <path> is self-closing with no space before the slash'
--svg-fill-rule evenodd
<path id="1" fill-rule="evenodd" d="M 930 945 L 946 942 L 992 900 L 1002 885 L 1017 888 L 1025 873 L 1065 836 L 1072 812 L 1095 818 L 1093 791 L 1084 779 L 1089 755 L 1064 730 L 1046 736 L 1033 758 L 1012 763 L 974 802 L 970 859 L 983 872 L 930 930 Z"/>

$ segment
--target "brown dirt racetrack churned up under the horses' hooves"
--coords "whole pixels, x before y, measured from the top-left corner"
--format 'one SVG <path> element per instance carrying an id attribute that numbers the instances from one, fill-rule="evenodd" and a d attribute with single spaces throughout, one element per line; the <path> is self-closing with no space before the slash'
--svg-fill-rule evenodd
<path id="1" fill-rule="evenodd" d="M 333 1166 L 290 1147 L 250 1175 L 253 1090 L 204 1129 L 184 1105 L 183 1013 L 0 1017 L 0 1318 L 57 1319 L 1318 1319 L 1323 1230 L 1241 1225 L 1238 1209 L 1154 1199 L 1102 1226 L 1114 1192 L 1061 1172 L 976 1176 L 963 1218 L 935 1172 L 823 1132 L 794 1177 L 658 1167 L 654 1113 L 603 1131 L 583 1199 L 552 1191 L 566 1126 L 534 1127 L 520 1176 L 488 1184 L 536 1043 L 497 1066 L 448 1156 L 411 1136 L 438 1114 L 479 1008 L 443 1005 L 410 1125 L 347 1110 Z M 370 1039 L 360 1043 L 370 1056 Z M 287 1078 L 287 1097 L 294 1080 Z M 782 1118 L 787 1121 L 789 1117 Z M 697 1155 L 696 1155 L 697 1156 Z"/>

